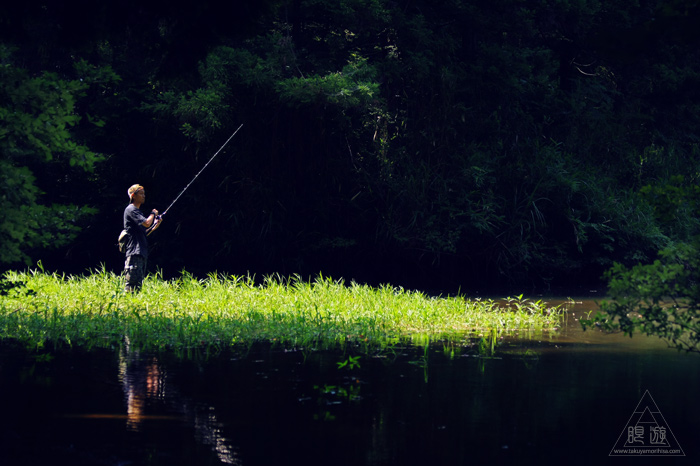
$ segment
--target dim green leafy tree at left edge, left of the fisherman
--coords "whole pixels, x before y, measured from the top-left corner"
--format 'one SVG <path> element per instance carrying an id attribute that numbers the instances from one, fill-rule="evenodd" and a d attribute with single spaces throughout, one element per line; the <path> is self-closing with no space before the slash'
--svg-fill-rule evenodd
<path id="1" fill-rule="evenodd" d="M 0 48 L 0 263 L 28 263 L 33 248 L 70 243 L 80 222 L 96 212 L 77 197 L 80 181 L 102 156 L 74 135 L 81 121 L 76 105 L 94 75 L 84 62 L 76 70 L 82 79 L 31 76 Z"/>

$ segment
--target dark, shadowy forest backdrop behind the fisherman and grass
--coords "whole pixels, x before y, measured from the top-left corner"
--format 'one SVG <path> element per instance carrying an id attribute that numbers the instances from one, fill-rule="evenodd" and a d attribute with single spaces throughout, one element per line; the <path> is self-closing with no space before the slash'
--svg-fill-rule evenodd
<path id="1" fill-rule="evenodd" d="M 700 1 L 0 7 L 0 267 L 588 289 L 698 233 Z"/>

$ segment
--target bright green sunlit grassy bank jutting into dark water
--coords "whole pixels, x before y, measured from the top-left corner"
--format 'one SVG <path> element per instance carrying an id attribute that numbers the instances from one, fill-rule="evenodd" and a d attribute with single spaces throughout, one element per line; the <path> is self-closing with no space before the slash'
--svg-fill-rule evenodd
<path id="1" fill-rule="evenodd" d="M 147 349 L 219 351 L 254 342 L 285 347 L 381 350 L 397 343 L 483 334 L 541 332 L 561 312 L 542 302 L 430 297 L 416 291 L 345 284 L 210 276 L 149 276 L 137 294 L 118 275 L 43 272 L 5 276 L 22 283 L 0 297 L 0 338 L 30 347 L 109 347 L 126 339 Z"/>

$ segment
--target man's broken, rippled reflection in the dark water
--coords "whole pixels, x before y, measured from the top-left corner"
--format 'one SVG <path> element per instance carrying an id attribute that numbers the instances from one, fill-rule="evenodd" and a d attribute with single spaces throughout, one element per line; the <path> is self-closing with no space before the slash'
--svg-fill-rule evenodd
<path id="1" fill-rule="evenodd" d="M 166 383 L 167 379 L 167 371 L 158 358 L 132 350 L 127 338 L 119 351 L 119 381 L 124 390 L 127 430 L 140 432 L 145 420 L 162 418 L 146 414 L 149 403 L 167 404 L 170 410 L 193 423 L 197 440 L 211 446 L 222 464 L 242 464 L 238 452 L 224 437 L 215 408 L 180 395 L 176 387 Z"/>

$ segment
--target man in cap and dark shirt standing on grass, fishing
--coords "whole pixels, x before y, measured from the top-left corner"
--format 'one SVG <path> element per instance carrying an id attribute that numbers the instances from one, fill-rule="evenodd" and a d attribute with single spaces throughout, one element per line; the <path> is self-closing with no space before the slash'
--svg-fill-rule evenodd
<path id="1" fill-rule="evenodd" d="M 140 184 L 131 186 L 128 194 L 130 203 L 124 209 L 124 229 L 129 235 L 126 244 L 126 262 L 124 263 L 126 276 L 124 289 L 128 292 L 134 292 L 141 289 L 143 278 L 146 275 L 148 262 L 146 229 L 153 225 L 158 217 L 158 211 L 153 209 L 148 217 L 141 212 L 141 205 L 146 202 L 146 191 Z"/>

